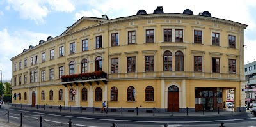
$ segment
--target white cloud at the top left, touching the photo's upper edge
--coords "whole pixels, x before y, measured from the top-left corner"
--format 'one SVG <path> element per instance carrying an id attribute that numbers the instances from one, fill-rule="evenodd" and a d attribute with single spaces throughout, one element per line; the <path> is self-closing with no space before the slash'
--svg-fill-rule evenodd
<path id="1" fill-rule="evenodd" d="M 18 11 L 22 19 L 33 20 L 36 24 L 44 24 L 44 18 L 51 11 L 71 12 L 75 10 L 69 0 L 8 0 L 6 10 L 10 8 Z"/>

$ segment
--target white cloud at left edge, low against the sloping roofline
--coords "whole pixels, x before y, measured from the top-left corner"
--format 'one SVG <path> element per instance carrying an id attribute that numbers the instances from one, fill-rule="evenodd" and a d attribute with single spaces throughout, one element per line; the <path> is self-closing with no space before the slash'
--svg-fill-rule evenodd
<path id="1" fill-rule="evenodd" d="M 0 70 L 5 78 L 10 80 L 12 75 L 12 62 L 10 59 L 22 53 L 23 49 L 28 49 L 29 45 L 38 45 L 41 39 L 47 38 L 48 34 L 33 33 L 31 31 L 15 31 L 9 33 L 8 29 L 0 31 Z"/>

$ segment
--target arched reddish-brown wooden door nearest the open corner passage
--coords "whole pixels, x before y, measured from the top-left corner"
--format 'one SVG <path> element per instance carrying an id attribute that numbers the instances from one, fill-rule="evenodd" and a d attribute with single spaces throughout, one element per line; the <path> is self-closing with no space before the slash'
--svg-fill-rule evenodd
<path id="1" fill-rule="evenodd" d="M 168 88 L 168 112 L 179 112 L 179 88 L 170 86 Z"/>

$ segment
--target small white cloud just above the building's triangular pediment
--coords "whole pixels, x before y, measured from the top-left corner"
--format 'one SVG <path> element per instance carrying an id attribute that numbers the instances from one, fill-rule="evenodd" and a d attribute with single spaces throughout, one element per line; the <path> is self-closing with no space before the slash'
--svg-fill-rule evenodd
<path id="1" fill-rule="evenodd" d="M 74 20 L 81 19 L 81 17 L 101 17 L 100 11 L 92 9 L 92 11 L 79 11 L 75 14 Z"/>

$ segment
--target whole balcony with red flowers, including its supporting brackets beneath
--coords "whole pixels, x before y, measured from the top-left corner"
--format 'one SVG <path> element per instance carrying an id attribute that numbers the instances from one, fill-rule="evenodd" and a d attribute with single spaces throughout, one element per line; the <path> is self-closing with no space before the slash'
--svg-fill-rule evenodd
<path id="1" fill-rule="evenodd" d="M 92 82 L 96 82 L 99 85 L 100 81 L 104 82 L 104 84 L 108 83 L 107 74 L 104 71 L 61 76 L 61 84 L 65 87 L 67 87 L 67 84 L 70 86 L 76 84 L 78 86 L 79 83 L 84 85 L 86 82 L 90 85 L 92 85 Z"/>

